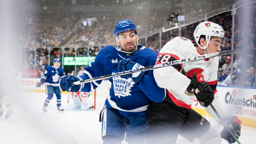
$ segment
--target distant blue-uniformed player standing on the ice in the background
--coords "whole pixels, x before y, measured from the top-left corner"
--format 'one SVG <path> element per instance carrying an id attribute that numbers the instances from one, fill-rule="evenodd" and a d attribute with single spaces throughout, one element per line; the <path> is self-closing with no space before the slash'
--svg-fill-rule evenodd
<path id="1" fill-rule="evenodd" d="M 63 112 L 64 109 L 61 107 L 61 95 L 59 88 L 59 79 L 65 77 L 65 72 L 60 67 L 60 59 L 53 60 L 53 66 L 46 67 L 44 71 L 44 75 L 41 76 L 40 83 L 37 83 L 37 87 L 40 87 L 41 84 L 45 83 L 46 95 L 48 97 L 44 101 L 43 112 L 47 112 L 47 106 L 50 100 L 53 97 L 53 93 L 56 94 L 57 97 L 57 108 L 59 112 Z"/>

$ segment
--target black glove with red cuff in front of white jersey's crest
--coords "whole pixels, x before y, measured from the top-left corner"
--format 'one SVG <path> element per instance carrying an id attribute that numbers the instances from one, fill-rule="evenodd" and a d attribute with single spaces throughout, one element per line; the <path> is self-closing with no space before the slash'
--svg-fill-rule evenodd
<path id="1" fill-rule="evenodd" d="M 196 99 L 204 107 L 208 107 L 214 99 L 214 92 L 212 88 L 204 81 L 202 74 L 193 74 L 187 91 L 194 93 Z"/>

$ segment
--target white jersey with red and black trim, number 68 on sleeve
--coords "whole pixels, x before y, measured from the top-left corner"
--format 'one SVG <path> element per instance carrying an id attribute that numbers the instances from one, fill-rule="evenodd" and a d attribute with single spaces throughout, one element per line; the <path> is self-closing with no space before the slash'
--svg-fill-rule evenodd
<path id="1" fill-rule="evenodd" d="M 161 49 L 157 56 L 156 64 L 200 55 L 191 40 L 184 37 L 175 37 Z M 222 105 L 219 102 L 219 96 L 216 90 L 218 64 L 219 61 L 217 57 L 214 57 L 211 59 L 163 67 L 154 69 L 154 78 L 159 87 L 166 88 L 167 94 L 176 105 L 191 109 L 194 94 L 186 91 L 190 84 L 189 78 L 192 77 L 193 73 L 201 73 L 207 84 L 214 90 L 213 106 L 222 117 L 227 117 L 227 114 L 223 111 Z M 205 108 L 214 118 L 217 118 L 210 106 Z"/>

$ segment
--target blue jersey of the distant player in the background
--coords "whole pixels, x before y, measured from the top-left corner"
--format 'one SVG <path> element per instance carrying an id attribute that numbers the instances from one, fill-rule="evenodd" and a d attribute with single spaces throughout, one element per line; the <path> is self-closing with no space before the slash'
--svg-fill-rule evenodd
<path id="1" fill-rule="evenodd" d="M 59 67 L 55 69 L 53 66 L 46 67 L 44 71 L 44 75 L 41 76 L 41 84 L 44 82 L 48 83 L 59 83 L 59 79 L 63 78 L 65 75 L 65 72 L 62 67 Z"/>

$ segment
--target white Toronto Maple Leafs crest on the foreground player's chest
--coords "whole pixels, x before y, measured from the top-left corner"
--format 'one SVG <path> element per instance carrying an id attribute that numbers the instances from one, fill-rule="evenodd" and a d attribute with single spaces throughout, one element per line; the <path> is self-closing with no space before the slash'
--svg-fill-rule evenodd
<path id="1" fill-rule="evenodd" d="M 131 88 L 133 87 L 135 83 L 132 81 L 132 78 L 122 78 L 120 76 L 113 77 L 113 86 L 114 86 L 114 92 L 115 96 L 118 96 L 119 98 L 131 96 Z"/>

